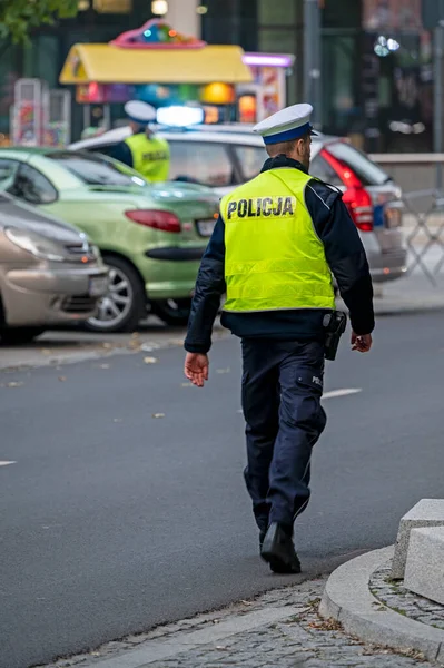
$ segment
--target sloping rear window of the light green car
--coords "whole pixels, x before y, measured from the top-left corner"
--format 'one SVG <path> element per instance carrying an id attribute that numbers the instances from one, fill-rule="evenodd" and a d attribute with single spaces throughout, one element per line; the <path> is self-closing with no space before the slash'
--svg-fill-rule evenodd
<path id="1" fill-rule="evenodd" d="M 106 156 L 57 151 L 48 154 L 47 157 L 89 186 L 148 186 L 137 171 Z"/>

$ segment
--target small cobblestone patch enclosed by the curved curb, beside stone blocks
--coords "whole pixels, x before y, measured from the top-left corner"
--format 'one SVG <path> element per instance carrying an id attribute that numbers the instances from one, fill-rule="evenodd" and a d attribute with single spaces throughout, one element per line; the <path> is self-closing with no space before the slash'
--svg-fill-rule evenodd
<path id="1" fill-rule="evenodd" d="M 369 582 L 373 596 L 401 615 L 444 629 L 444 607 L 408 591 L 402 580 L 392 580 L 391 567 L 388 562 L 373 573 Z"/>

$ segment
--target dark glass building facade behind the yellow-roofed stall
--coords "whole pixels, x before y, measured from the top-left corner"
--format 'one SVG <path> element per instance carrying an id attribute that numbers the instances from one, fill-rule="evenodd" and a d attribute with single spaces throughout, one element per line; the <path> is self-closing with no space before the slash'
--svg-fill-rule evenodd
<path id="1" fill-rule="evenodd" d="M 107 42 L 167 8 L 179 31 L 209 43 L 296 57 L 287 99 L 303 99 L 304 0 L 79 0 L 75 19 L 42 27 L 27 48 L 0 43 L 0 132 L 8 132 L 13 85 L 37 77 L 58 86 L 70 47 Z M 432 149 L 432 36 L 421 23 L 421 0 L 319 0 L 322 127 L 351 135 L 372 151 Z M 82 129 L 73 104 L 72 136 Z"/>

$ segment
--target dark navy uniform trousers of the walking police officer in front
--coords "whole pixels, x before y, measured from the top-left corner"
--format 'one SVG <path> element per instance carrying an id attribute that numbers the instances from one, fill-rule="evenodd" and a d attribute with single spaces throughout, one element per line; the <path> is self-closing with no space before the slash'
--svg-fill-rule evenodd
<path id="1" fill-rule="evenodd" d="M 260 531 L 293 525 L 309 500 L 312 449 L 325 429 L 324 345 L 243 340 L 245 481 Z"/>

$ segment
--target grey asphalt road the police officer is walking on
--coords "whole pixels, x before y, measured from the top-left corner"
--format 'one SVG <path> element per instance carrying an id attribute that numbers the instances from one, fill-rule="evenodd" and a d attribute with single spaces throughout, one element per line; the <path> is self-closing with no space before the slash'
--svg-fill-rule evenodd
<path id="1" fill-rule="evenodd" d="M 443 494 L 443 330 L 444 314 L 381 318 L 371 355 L 344 342 L 328 365 L 327 391 L 362 391 L 325 401 L 296 532 L 307 573 L 393 542 Z M 238 343 L 215 344 L 205 391 L 184 385 L 179 348 L 150 354 L 0 374 L 0 463 L 17 462 L 0 466 L 1 668 L 294 581 L 257 554 Z"/>

